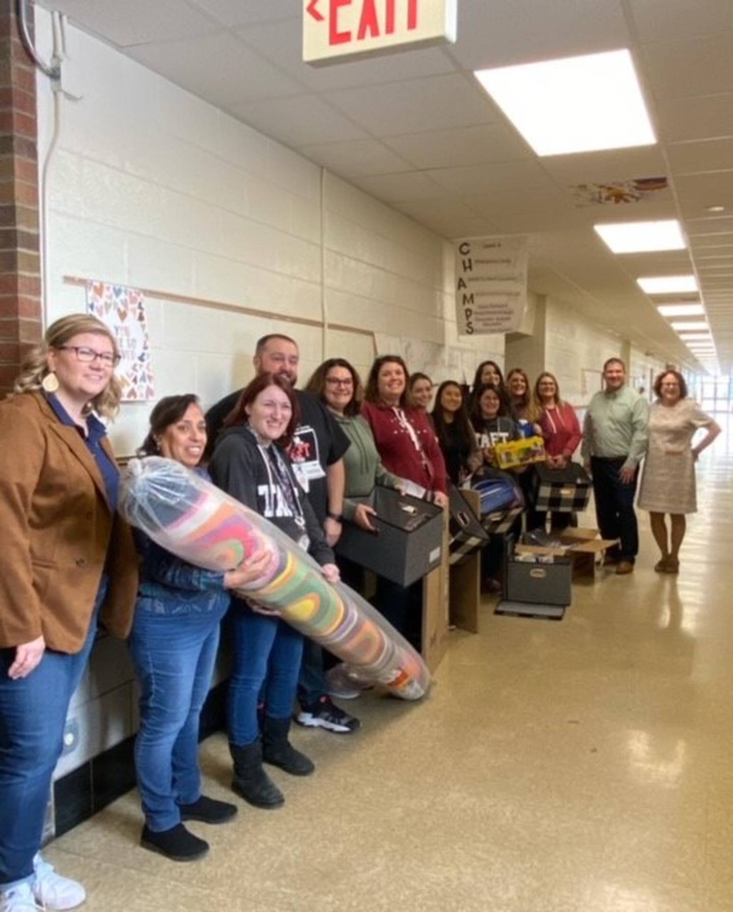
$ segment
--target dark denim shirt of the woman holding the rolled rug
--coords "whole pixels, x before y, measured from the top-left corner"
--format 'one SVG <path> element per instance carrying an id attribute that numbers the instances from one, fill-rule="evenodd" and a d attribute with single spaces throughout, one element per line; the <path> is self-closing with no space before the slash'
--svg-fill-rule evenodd
<path id="1" fill-rule="evenodd" d="M 195 472 L 208 479 L 204 469 Z M 223 573 L 188 564 L 140 529 L 133 529 L 133 534 L 141 556 L 136 610 L 171 617 L 225 614 L 230 594 L 224 587 Z"/>

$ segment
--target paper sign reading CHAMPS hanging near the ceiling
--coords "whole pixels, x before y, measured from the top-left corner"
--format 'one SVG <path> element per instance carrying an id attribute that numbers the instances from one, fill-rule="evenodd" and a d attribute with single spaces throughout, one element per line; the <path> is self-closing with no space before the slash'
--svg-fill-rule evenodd
<path id="1" fill-rule="evenodd" d="M 527 306 L 527 238 L 456 242 L 456 324 L 462 336 L 510 333 Z"/>

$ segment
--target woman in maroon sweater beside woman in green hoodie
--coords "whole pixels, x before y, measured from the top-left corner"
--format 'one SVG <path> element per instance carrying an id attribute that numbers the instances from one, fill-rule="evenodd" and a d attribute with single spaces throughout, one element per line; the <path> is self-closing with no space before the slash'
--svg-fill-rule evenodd
<path id="1" fill-rule="evenodd" d="M 408 376 L 398 355 L 377 358 L 369 373 L 361 414 L 372 428 L 385 468 L 433 492 L 435 503 L 445 507 L 443 453 L 424 410 L 405 405 Z"/>

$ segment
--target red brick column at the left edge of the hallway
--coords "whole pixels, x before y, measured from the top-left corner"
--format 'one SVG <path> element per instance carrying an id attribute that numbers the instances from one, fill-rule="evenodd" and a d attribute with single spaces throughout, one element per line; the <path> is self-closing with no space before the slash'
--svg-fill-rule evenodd
<path id="1" fill-rule="evenodd" d="M 36 70 L 0 0 L 0 397 L 42 332 Z"/>

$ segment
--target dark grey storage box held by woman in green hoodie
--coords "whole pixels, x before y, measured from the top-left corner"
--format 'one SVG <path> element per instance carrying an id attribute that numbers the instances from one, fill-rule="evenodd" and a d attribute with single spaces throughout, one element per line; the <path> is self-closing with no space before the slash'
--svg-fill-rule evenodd
<path id="1" fill-rule="evenodd" d="M 412 586 L 440 565 L 444 551 L 440 507 L 382 487 L 364 501 L 377 513 L 373 519 L 377 531 L 344 523 L 336 554 L 400 586 Z"/>

